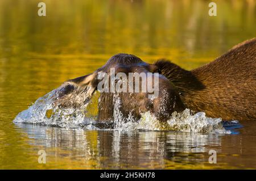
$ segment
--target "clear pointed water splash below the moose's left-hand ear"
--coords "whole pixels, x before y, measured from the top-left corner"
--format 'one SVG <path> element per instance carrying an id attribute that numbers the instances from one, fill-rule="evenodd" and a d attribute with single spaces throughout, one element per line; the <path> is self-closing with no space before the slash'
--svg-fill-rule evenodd
<path id="1" fill-rule="evenodd" d="M 88 100 L 88 95 L 79 92 L 61 97 L 64 89 L 66 87 L 61 86 L 36 100 L 31 107 L 15 117 L 14 123 L 79 128 L 81 125 L 92 121 L 90 117 L 85 119 L 85 110 L 88 106 L 88 101 L 85 100 Z"/>

